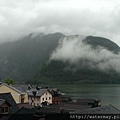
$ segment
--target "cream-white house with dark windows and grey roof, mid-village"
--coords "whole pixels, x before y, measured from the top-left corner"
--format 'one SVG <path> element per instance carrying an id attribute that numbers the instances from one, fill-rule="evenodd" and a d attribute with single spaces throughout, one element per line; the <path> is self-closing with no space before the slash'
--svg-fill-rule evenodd
<path id="1" fill-rule="evenodd" d="M 28 91 L 28 100 L 32 106 L 52 104 L 52 94 L 47 89 L 31 89 Z"/>

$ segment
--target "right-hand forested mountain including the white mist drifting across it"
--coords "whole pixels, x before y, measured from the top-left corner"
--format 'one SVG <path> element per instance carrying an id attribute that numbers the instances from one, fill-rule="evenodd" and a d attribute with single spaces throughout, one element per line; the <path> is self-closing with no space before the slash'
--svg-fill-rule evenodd
<path id="1" fill-rule="evenodd" d="M 41 75 L 62 82 L 120 83 L 119 51 L 119 46 L 106 38 L 67 36 Z"/>

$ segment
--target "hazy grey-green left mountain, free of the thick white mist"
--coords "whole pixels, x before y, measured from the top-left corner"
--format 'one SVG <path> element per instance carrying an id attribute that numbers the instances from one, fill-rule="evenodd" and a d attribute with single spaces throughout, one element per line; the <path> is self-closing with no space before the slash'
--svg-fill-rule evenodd
<path id="1" fill-rule="evenodd" d="M 32 79 L 40 67 L 48 61 L 64 35 L 30 34 L 21 40 L 0 46 L 0 78 L 16 81 Z"/>

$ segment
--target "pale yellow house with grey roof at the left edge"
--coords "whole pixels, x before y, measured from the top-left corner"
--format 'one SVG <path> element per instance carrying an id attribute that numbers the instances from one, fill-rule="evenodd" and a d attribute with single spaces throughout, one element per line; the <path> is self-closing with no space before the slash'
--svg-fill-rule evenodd
<path id="1" fill-rule="evenodd" d="M 24 91 L 24 89 L 18 89 L 17 87 L 8 85 L 6 83 L 0 84 L 0 93 L 8 92 L 11 93 L 16 103 L 28 102 L 28 94 Z"/>

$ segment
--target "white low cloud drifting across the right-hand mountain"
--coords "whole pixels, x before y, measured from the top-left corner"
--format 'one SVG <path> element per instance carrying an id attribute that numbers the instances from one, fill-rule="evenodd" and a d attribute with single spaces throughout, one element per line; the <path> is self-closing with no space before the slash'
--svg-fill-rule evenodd
<path id="1" fill-rule="evenodd" d="M 59 41 L 59 46 L 52 53 L 50 60 L 69 62 L 71 65 L 78 65 L 83 60 L 90 68 L 98 68 L 102 71 L 115 70 L 120 72 L 120 53 L 113 52 L 98 46 L 93 49 L 85 44 L 83 36 L 68 36 Z"/>

